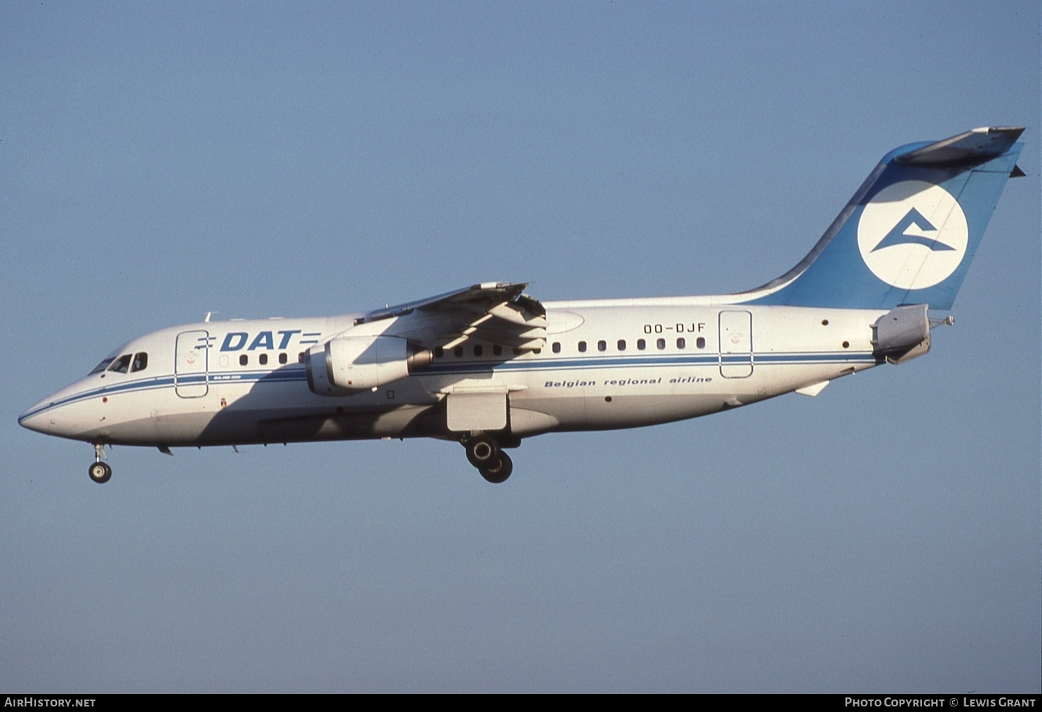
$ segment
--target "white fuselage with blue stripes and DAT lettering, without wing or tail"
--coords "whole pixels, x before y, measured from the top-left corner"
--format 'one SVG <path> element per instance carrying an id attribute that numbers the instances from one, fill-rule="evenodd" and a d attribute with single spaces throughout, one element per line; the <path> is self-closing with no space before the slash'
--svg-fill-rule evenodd
<path id="1" fill-rule="evenodd" d="M 630 428 L 695 417 L 823 385 L 882 362 L 884 310 L 745 306 L 726 298 L 547 302 L 546 347 L 437 350 L 414 375 L 319 396 L 303 354 L 357 314 L 205 322 L 135 338 L 114 356 L 147 365 L 94 373 L 41 401 L 22 425 L 96 443 L 212 446 L 454 437 L 452 393 L 505 395 L 510 430 Z M 367 325 L 393 335 L 407 317 Z"/>

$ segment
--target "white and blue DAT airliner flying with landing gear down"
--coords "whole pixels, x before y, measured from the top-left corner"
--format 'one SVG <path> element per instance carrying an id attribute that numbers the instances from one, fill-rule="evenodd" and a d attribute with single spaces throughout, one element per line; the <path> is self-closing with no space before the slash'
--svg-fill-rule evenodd
<path id="1" fill-rule="evenodd" d="M 1022 128 L 891 151 L 796 266 L 733 295 L 540 302 L 483 282 L 371 311 L 163 329 L 19 423 L 94 446 L 433 437 L 489 482 L 551 432 L 717 413 L 929 351 L 1016 166 Z"/>

